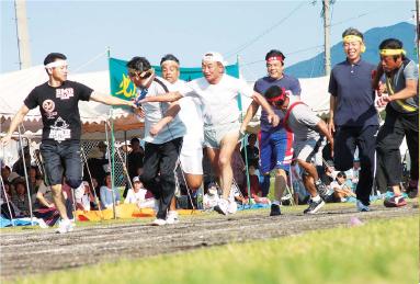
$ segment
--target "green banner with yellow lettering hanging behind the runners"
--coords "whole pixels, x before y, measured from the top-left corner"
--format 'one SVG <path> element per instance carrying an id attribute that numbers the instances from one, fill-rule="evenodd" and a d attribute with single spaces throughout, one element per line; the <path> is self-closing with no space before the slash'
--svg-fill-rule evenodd
<path id="1" fill-rule="evenodd" d="M 136 87 L 128 78 L 127 61 L 110 57 L 110 81 L 111 81 L 111 94 L 124 100 L 130 100 L 136 96 Z M 160 66 L 152 66 L 157 76 L 162 76 L 162 69 Z M 196 78 L 203 77 L 202 68 L 180 68 L 180 79 L 184 81 L 191 81 Z M 238 64 L 226 66 L 226 73 L 239 78 Z"/>

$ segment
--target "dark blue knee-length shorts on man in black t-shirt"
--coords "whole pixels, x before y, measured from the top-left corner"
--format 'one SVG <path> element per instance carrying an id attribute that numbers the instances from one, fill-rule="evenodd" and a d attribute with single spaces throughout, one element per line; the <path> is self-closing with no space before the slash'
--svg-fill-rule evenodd
<path id="1" fill-rule="evenodd" d="M 65 172 L 67 184 L 77 189 L 81 183 L 80 143 L 41 144 L 41 156 L 46 171 L 48 185 L 63 183 Z"/>

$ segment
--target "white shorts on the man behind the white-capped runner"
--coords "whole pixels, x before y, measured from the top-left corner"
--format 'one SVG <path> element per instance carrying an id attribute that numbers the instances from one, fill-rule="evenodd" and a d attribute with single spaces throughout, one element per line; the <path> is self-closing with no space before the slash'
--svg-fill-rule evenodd
<path id="1" fill-rule="evenodd" d="M 182 143 L 180 162 L 183 172 L 203 174 L 203 145 L 201 140 L 186 139 Z"/>

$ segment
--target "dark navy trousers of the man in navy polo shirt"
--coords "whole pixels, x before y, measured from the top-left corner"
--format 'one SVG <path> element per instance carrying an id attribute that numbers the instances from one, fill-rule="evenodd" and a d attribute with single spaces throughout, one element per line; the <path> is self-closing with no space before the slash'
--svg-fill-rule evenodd
<path id="1" fill-rule="evenodd" d="M 339 126 L 334 133 L 334 168 L 347 171 L 353 167 L 354 151 L 359 148 L 361 164 L 356 196 L 363 204 L 370 204 L 374 180 L 375 147 L 377 125 Z"/>

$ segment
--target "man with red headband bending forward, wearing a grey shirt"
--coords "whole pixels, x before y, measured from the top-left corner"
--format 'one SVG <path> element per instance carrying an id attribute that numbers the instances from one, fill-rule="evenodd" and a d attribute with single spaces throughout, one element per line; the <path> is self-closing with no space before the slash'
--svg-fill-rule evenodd
<path id="1" fill-rule="evenodd" d="M 323 198 L 327 196 L 327 186 L 318 177 L 315 158 L 322 151 L 325 137 L 333 146 L 332 136 L 328 132 L 327 124 L 320 117 L 302 101 L 291 103 L 285 90 L 279 86 L 270 87 L 265 92 L 265 99 L 273 107 L 285 113 L 284 127 L 294 133 L 294 158 L 304 170 L 302 178 L 310 194 L 309 207 L 304 213 L 315 214 L 325 205 Z M 331 156 L 333 156 L 332 150 Z"/>

